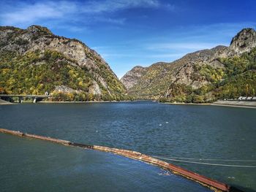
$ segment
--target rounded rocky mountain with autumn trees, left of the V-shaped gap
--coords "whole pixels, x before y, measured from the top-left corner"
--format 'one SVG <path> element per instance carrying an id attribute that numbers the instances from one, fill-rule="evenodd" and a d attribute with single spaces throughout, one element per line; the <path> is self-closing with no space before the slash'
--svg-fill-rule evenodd
<path id="1" fill-rule="evenodd" d="M 126 88 L 98 53 L 42 26 L 0 27 L 0 91 L 48 91 L 65 101 L 127 99 Z"/>

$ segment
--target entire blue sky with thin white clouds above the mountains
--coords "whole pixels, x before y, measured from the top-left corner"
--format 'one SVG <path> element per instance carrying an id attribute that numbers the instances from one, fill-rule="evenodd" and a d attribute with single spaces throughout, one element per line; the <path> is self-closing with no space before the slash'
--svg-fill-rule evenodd
<path id="1" fill-rule="evenodd" d="M 229 45 L 241 28 L 256 28 L 256 1 L 0 1 L 1 26 L 34 24 L 85 42 L 121 77 L 133 66 Z"/>

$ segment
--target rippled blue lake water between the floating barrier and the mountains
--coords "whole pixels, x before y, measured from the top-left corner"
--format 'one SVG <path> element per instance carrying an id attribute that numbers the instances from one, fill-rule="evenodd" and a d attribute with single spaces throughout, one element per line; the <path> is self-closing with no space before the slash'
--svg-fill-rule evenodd
<path id="1" fill-rule="evenodd" d="M 1 128 L 89 145 L 165 157 L 256 160 L 254 109 L 141 101 L 20 104 L 0 106 L 0 115 Z M 170 162 L 246 191 L 256 190 L 253 168 Z"/>

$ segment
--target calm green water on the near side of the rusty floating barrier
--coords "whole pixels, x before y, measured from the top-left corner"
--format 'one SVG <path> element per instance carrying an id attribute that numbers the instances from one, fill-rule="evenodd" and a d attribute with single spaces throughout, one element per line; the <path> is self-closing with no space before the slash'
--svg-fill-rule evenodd
<path id="1" fill-rule="evenodd" d="M 0 191 L 210 191 L 119 155 L 0 134 Z"/>

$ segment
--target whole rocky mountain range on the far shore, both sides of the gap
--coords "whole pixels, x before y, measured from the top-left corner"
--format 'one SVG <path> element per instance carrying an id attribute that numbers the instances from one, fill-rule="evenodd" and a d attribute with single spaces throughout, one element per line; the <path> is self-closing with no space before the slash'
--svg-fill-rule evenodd
<path id="1" fill-rule="evenodd" d="M 118 80 L 104 59 L 77 39 L 56 36 L 42 26 L 0 27 L 0 93 L 48 91 L 57 101 L 195 103 L 255 96 L 255 47 L 256 31 L 244 28 L 229 47 L 199 50 L 171 63 L 135 66 Z"/>

